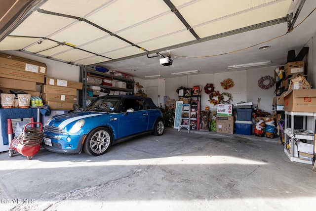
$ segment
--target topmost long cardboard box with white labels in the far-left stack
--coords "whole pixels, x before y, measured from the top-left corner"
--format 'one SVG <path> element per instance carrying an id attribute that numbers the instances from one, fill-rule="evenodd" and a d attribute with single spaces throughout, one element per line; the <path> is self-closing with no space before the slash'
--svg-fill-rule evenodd
<path id="1" fill-rule="evenodd" d="M 0 53 L 0 67 L 37 73 L 44 76 L 47 75 L 47 66 L 45 63 L 6 53 Z"/>

